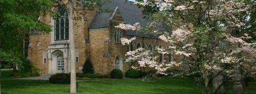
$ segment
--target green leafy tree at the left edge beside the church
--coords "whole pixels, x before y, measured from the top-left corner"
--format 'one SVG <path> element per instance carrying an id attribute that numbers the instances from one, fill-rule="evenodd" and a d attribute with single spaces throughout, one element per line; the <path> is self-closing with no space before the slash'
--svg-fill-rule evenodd
<path id="1" fill-rule="evenodd" d="M 31 29 L 51 31 L 51 26 L 38 21 L 38 17 L 50 11 L 53 1 L 0 0 L 0 48 L 16 58 L 26 58 L 25 44 Z"/>

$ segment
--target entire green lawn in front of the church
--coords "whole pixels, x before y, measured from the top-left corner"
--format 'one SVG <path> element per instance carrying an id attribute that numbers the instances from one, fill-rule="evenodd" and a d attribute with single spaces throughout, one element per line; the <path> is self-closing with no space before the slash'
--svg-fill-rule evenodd
<path id="1" fill-rule="evenodd" d="M 142 82 L 139 79 L 116 79 L 78 83 L 79 94 L 200 94 L 192 80 L 186 78 L 154 79 Z M 47 80 L 2 79 L 3 94 L 67 94 L 69 85 L 49 84 Z M 230 94 L 232 90 L 229 91 Z M 244 94 L 256 92 L 256 83 L 244 88 Z"/>

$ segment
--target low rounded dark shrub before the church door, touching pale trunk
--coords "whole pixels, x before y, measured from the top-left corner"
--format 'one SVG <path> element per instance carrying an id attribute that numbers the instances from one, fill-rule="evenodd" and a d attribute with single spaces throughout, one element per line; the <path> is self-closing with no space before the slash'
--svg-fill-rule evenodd
<path id="1" fill-rule="evenodd" d="M 49 83 L 53 84 L 70 84 L 70 75 L 65 73 L 59 73 L 52 75 L 49 78 Z"/>

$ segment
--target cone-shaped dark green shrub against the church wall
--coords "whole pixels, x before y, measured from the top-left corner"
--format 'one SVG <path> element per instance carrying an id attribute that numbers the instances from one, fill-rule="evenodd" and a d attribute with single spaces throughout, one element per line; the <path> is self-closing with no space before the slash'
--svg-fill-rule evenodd
<path id="1" fill-rule="evenodd" d="M 84 62 L 84 66 L 83 66 L 82 71 L 84 72 L 84 74 L 86 74 L 86 73 L 94 73 L 93 64 L 90 62 L 89 59 L 87 59 Z"/>

